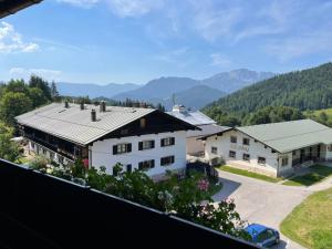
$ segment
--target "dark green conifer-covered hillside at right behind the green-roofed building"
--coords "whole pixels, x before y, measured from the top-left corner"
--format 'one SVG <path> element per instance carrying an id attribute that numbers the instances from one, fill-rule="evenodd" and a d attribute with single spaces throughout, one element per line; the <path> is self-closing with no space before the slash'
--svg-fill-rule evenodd
<path id="1" fill-rule="evenodd" d="M 212 118 L 228 113 L 243 116 L 264 106 L 318 110 L 332 106 L 332 63 L 280 74 L 247 86 L 204 108 Z"/>

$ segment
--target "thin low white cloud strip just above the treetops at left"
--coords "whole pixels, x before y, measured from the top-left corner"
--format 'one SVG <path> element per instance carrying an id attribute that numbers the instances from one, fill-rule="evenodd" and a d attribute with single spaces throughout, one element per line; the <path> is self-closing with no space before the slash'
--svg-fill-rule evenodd
<path id="1" fill-rule="evenodd" d="M 41 76 L 49 81 L 56 81 L 61 75 L 61 71 L 48 70 L 48 69 L 24 69 L 24 68 L 12 68 L 9 71 L 11 77 L 28 80 L 32 74 Z"/>

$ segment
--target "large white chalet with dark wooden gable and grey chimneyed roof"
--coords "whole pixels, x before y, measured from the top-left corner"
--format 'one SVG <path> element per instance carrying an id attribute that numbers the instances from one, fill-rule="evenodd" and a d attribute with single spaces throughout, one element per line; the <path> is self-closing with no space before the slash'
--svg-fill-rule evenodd
<path id="1" fill-rule="evenodd" d="M 95 111 L 100 108 L 98 111 Z M 17 117 L 29 149 L 61 164 L 144 169 L 157 176 L 186 166 L 186 132 L 191 124 L 153 108 L 53 103 Z"/>

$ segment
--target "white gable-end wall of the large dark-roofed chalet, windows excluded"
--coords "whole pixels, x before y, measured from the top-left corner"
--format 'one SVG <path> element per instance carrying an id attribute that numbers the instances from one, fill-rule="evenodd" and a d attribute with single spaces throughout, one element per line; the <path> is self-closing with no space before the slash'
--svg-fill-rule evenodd
<path id="1" fill-rule="evenodd" d="M 175 145 L 160 147 L 160 139 L 165 137 L 175 137 Z M 155 141 L 155 148 L 138 151 L 138 142 Z M 132 143 L 132 152 L 113 155 L 113 145 L 121 143 Z M 113 173 L 113 166 L 121 163 L 124 166 L 131 164 L 132 169 L 138 169 L 138 163 L 143 160 L 155 159 L 155 167 L 146 172 L 148 176 L 164 174 L 166 169 L 181 169 L 186 167 L 186 132 L 158 133 L 142 136 L 128 136 L 122 138 L 112 138 L 94 142 L 91 149 L 91 165 L 94 167 L 106 167 L 106 173 Z M 160 158 L 165 156 L 175 156 L 172 165 L 160 166 Z M 125 170 L 125 168 L 124 168 Z"/>

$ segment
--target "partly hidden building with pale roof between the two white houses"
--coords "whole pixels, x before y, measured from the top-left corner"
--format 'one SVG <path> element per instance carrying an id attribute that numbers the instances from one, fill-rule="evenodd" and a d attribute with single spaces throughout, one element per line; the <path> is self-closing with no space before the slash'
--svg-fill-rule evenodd
<path id="1" fill-rule="evenodd" d="M 219 126 L 217 122 L 203 114 L 199 111 L 188 111 L 184 105 L 175 105 L 168 114 L 180 118 L 191 125 L 200 128 L 200 131 L 187 132 L 187 154 L 188 155 L 204 155 L 205 142 L 199 139 L 204 136 L 216 134 L 228 129 L 229 127 Z"/>

